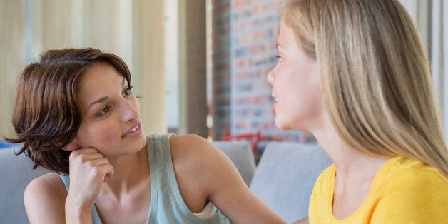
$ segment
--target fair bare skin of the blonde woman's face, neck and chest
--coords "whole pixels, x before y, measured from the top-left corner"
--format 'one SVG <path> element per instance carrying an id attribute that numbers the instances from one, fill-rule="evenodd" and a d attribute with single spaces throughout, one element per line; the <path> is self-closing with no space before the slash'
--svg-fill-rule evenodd
<path id="1" fill-rule="evenodd" d="M 337 170 L 333 213 L 347 218 L 367 198 L 377 170 L 388 158 L 368 156 L 342 140 L 323 102 L 319 65 L 299 46 L 294 31 L 282 24 L 278 64 L 268 74 L 276 101 L 275 123 L 282 130 L 307 131 L 317 138 Z M 297 223 L 307 223 L 307 218 Z"/>

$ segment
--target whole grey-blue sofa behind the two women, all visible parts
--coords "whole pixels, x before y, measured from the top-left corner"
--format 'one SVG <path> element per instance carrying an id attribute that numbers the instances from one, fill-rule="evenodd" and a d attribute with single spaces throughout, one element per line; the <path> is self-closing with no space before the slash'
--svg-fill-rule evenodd
<path id="1" fill-rule="evenodd" d="M 319 173 L 331 161 L 319 146 L 270 142 L 255 168 L 250 143 L 218 142 L 255 195 L 288 222 L 307 216 L 308 200 Z M 48 170 L 31 170 L 19 147 L 0 148 L 0 223 L 29 223 L 24 208 L 26 185 Z"/>

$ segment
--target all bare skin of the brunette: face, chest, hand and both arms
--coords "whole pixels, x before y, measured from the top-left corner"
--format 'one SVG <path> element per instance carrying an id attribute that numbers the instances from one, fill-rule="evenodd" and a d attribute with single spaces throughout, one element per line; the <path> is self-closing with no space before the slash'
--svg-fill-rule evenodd
<path id="1" fill-rule="evenodd" d="M 81 127 L 63 148 L 72 151 L 70 190 L 56 173 L 31 181 L 24 193 L 30 222 L 91 223 L 94 204 L 103 223 L 146 223 L 151 183 L 136 96 L 107 63 L 88 68 L 79 93 Z M 250 192 L 230 159 L 204 138 L 173 136 L 170 148 L 180 193 L 191 212 L 200 213 L 210 200 L 233 223 L 284 223 Z"/>

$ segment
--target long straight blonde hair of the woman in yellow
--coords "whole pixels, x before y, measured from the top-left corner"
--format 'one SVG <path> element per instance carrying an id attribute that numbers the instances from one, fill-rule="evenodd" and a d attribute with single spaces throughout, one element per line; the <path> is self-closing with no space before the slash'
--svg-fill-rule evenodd
<path id="1" fill-rule="evenodd" d="M 287 0 L 282 21 L 317 59 L 337 132 L 364 153 L 413 158 L 448 177 L 448 151 L 417 28 L 397 0 Z"/>

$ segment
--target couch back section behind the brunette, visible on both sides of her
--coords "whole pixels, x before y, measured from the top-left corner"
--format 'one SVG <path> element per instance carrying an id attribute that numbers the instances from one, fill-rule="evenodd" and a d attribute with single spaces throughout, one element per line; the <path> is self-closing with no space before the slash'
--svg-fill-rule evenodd
<path id="1" fill-rule="evenodd" d="M 229 141 L 215 141 L 213 144 L 229 156 L 249 185 L 255 170 L 250 144 Z M 20 146 L 0 145 L 0 223 L 29 223 L 24 206 L 24 190 L 31 180 L 49 173 L 44 168 L 32 170 L 33 163 L 28 156 L 24 153 L 15 155 L 19 149 Z"/>

